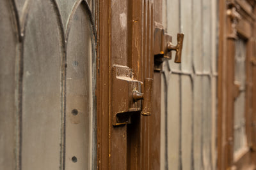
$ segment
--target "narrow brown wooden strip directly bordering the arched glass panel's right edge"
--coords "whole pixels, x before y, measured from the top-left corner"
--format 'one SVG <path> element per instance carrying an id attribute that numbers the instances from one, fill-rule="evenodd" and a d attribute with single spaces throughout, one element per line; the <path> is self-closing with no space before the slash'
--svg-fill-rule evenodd
<path id="1" fill-rule="evenodd" d="M 98 32 L 98 59 L 97 59 L 97 169 L 109 169 L 110 166 L 110 129 L 111 117 L 109 115 L 111 56 L 109 24 L 111 8 L 110 1 L 99 3 Z M 100 28 L 99 28 L 100 25 Z M 104 74 L 103 74 L 104 73 Z M 106 101 L 106 102 L 103 102 Z"/>

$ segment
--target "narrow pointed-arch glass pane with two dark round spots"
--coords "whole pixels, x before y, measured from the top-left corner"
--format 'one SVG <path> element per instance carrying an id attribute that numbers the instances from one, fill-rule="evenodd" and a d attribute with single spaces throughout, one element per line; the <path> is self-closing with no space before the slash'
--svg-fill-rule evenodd
<path id="1" fill-rule="evenodd" d="M 92 169 L 92 30 L 83 3 L 70 22 L 65 168 Z"/>

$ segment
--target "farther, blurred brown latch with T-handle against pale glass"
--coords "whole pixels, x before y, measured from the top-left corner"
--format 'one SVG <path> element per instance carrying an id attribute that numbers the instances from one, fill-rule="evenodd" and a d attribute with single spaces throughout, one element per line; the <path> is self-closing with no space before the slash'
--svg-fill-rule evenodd
<path id="1" fill-rule="evenodd" d="M 172 50 L 175 50 L 176 56 L 174 62 L 181 62 L 181 52 L 183 45 L 184 34 L 177 34 L 177 45 L 172 44 L 172 36 L 166 34 L 164 29 L 158 27 L 154 32 L 154 62 L 155 69 L 159 69 L 159 66 L 164 60 L 172 59 Z"/>

